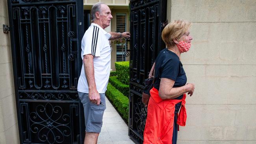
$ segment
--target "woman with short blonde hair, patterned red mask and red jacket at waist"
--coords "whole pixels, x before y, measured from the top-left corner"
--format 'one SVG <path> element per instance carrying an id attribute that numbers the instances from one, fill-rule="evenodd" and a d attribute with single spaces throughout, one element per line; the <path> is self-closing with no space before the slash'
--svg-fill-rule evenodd
<path id="1" fill-rule="evenodd" d="M 167 48 L 161 50 L 155 61 L 144 144 L 176 144 L 178 125 L 186 124 L 185 93 L 192 96 L 195 86 L 187 83 L 180 55 L 191 46 L 190 26 L 191 22 L 174 20 L 163 29 L 162 39 Z"/>

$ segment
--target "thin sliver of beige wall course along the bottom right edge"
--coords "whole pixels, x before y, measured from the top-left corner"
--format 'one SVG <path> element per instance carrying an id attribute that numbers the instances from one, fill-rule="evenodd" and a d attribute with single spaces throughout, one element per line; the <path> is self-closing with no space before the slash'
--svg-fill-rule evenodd
<path id="1" fill-rule="evenodd" d="M 255 144 L 256 140 L 247 141 L 192 141 L 192 140 L 177 140 L 177 144 Z"/>

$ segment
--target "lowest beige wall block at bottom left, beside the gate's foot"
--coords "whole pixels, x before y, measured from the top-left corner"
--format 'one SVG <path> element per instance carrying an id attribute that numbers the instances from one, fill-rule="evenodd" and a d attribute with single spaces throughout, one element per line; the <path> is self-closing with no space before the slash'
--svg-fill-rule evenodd
<path id="1" fill-rule="evenodd" d="M 6 131 L 6 144 L 20 144 L 18 124 Z"/>

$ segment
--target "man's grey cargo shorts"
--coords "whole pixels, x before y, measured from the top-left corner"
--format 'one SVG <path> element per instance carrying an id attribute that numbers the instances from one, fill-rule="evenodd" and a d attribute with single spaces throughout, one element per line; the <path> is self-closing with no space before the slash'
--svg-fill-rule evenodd
<path id="1" fill-rule="evenodd" d="M 106 109 L 105 93 L 100 94 L 100 101 L 104 104 L 96 105 L 90 102 L 89 94 L 78 92 L 79 98 L 83 104 L 85 131 L 100 133 L 102 127 L 102 118 Z"/>

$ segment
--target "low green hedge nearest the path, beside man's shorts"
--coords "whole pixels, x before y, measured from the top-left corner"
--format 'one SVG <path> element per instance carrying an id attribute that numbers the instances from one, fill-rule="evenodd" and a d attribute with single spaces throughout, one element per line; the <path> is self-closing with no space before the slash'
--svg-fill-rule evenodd
<path id="1" fill-rule="evenodd" d="M 129 116 L 129 99 L 124 96 L 119 90 L 115 89 L 110 83 L 108 83 L 108 90 L 106 96 L 110 100 L 117 111 L 121 114 L 122 118 L 128 122 Z"/>

